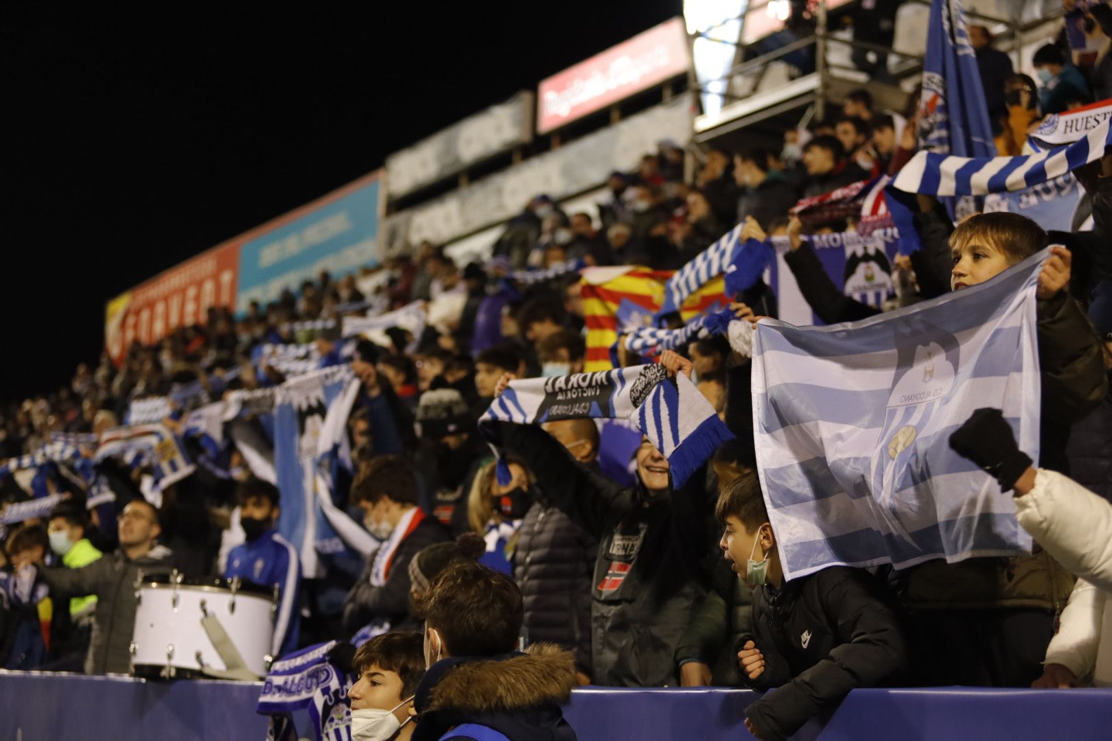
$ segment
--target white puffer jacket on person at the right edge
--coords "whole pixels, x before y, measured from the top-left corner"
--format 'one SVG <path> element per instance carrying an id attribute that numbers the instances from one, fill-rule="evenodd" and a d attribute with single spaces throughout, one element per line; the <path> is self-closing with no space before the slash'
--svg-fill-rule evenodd
<path id="1" fill-rule="evenodd" d="M 1046 663 L 1068 668 L 1096 687 L 1112 687 L 1112 504 L 1078 482 L 1040 469 L 1035 485 L 1015 499 L 1015 517 L 1078 585 L 1046 648 Z"/>

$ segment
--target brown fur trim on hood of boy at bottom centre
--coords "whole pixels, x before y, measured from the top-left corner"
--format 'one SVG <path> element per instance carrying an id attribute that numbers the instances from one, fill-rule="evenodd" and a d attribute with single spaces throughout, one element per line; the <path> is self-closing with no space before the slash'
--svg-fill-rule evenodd
<path id="1" fill-rule="evenodd" d="M 536 643 L 508 659 L 457 664 L 431 688 L 426 709 L 497 713 L 562 705 L 575 685 L 575 657 L 557 645 Z"/>

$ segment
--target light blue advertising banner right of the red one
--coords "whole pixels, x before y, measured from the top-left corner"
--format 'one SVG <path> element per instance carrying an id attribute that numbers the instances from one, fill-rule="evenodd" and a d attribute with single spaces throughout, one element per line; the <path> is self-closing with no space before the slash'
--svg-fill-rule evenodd
<path id="1" fill-rule="evenodd" d="M 248 233 L 239 253 L 237 313 L 284 288 L 378 264 L 379 176 L 374 172 Z"/>

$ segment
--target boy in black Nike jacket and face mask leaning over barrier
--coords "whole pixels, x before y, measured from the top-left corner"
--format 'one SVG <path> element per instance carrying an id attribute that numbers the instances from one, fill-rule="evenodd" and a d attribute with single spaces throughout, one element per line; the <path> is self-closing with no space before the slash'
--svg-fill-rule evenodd
<path id="1" fill-rule="evenodd" d="M 726 485 L 715 514 L 726 560 L 755 589 L 753 633 L 737 647 L 743 681 L 778 688 L 745 709 L 751 733 L 786 739 L 850 690 L 891 684 L 904 672 L 896 613 L 867 571 L 831 567 L 784 581 L 756 473 Z"/>

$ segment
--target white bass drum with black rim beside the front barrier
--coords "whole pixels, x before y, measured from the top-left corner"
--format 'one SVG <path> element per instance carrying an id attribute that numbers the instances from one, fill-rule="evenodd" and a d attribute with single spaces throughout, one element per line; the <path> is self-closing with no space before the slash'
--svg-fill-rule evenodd
<path id="1" fill-rule="evenodd" d="M 250 679 L 272 658 L 277 588 L 239 579 L 140 574 L 131 673 L 146 678 Z"/>

